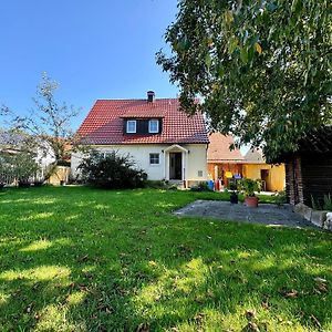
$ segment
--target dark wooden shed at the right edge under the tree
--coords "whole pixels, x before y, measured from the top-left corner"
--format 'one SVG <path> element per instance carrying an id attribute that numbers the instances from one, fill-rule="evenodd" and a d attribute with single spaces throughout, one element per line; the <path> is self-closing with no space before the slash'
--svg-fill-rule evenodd
<path id="1" fill-rule="evenodd" d="M 332 195 L 332 126 L 309 133 L 299 142 L 299 148 L 279 156 L 274 162 L 286 163 L 286 187 L 293 205 L 311 205 L 311 197 L 322 203 Z"/>

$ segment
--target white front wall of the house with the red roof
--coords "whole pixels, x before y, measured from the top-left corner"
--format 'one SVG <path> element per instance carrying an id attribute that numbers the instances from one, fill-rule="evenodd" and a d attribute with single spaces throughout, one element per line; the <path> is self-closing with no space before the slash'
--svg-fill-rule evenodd
<path id="1" fill-rule="evenodd" d="M 167 158 L 168 154 L 164 151 L 170 145 L 160 144 L 145 144 L 145 145 L 101 145 L 94 146 L 95 149 L 107 153 L 111 151 L 117 151 L 120 154 L 129 154 L 136 162 L 138 168 L 143 168 L 151 180 L 160 180 L 167 178 L 169 167 Z M 186 179 L 190 181 L 201 181 L 207 179 L 207 145 L 206 144 L 183 144 L 181 147 L 189 151 L 187 157 L 184 156 Z M 159 165 L 149 165 L 149 154 L 159 154 Z M 77 175 L 77 166 L 82 160 L 83 155 L 81 153 L 72 154 L 72 174 Z M 188 165 L 186 165 L 188 163 Z M 166 168 L 165 168 L 166 166 Z M 198 172 L 203 172 L 203 176 L 198 175 Z"/>

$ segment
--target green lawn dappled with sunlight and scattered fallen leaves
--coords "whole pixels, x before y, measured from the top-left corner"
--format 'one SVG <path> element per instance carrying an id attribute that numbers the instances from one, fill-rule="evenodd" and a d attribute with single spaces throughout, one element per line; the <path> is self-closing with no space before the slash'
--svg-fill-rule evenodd
<path id="1" fill-rule="evenodd" d="M 170 214 L 221 197 L 0 191 L 0 331 L 332 331 L 332 235 Z"/>

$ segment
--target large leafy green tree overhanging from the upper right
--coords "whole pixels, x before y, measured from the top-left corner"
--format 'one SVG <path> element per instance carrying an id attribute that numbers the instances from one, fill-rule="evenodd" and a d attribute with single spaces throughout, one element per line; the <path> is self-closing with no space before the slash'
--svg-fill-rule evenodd
<path id="1" fill-rule="evenodd" d="M 180 0 L 157 63 L 185 111 L 268 158 L 331 123 L 332 21 L 328 0 Z M 196 103 L 197 96 L 203 103 Z"/>

